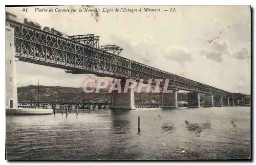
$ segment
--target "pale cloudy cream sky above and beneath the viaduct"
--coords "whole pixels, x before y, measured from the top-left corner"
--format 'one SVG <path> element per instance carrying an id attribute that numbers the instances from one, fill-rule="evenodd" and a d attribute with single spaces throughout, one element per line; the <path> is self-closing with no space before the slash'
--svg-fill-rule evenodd
<path id="1" fill-rule="evenodd" d="M 116 44 L 120 56 L 229 92 L 250 94 L 251 18 L 249 6 L 93 6 L 95 12 L 35 12 L 6 8 L 23 19 L 67 35 L 95 34 L 100 45 Z M 162 12 L 102 12 L 103 8 L 160 9 Z M 169 12 L 175 8 L 177 12 Z M 37 84 L 81 87 L 87 76 L 63 69 L 17 62 L 17 86 Z"/>

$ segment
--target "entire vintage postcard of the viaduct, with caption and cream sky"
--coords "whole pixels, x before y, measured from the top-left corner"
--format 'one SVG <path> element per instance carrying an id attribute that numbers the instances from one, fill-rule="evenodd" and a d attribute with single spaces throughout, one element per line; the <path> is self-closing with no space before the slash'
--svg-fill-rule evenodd
<path id="1" fill-rule="evenodd" d="M 251 159 L 250 6 L 5 14 L 7 160 Z"/>

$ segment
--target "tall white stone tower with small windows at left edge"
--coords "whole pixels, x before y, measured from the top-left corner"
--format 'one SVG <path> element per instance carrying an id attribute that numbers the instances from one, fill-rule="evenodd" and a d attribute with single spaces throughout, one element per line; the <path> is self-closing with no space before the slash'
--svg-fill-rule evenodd
<path id="1" fill-rule="evenodd" d="M 18 108 L 17 84 L 16 84 L 16 62 L 14 48 L 14 30 L 5 28 L 5 107 Z"/>

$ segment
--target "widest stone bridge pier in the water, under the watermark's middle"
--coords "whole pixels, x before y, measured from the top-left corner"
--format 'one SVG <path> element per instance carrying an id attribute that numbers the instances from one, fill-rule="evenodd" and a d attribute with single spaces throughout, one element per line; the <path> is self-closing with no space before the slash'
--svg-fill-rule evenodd
<path id="1" fill-rule="evenodd" d="M 134 89 L 128 89 L 126 93 L 123 92 L 126 81 L 121 81 L 121 93 L 118 90 L 112 91 L 112 105 L 111 109 L 136 109 L 134 101 Z"/>

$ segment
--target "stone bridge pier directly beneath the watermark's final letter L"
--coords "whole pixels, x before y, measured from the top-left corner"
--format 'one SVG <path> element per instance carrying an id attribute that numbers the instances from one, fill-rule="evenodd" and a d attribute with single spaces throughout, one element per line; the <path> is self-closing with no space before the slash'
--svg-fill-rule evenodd
<path id="1" fill-rule="evenodd" d="M 172 93 L 163 93 L 162 96 L 162 106 L 161 108 L 178 108 L 178 89 L 168 89 L 173 90 Z"/>

